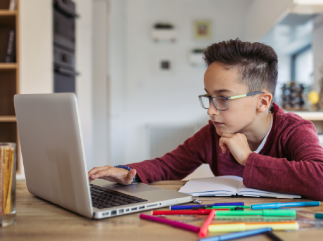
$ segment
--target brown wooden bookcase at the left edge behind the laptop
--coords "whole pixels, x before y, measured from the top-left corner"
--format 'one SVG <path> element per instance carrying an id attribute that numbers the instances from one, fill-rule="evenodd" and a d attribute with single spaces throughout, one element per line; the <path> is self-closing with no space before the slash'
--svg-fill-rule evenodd
<path id="1" fill-rule="evenodd" d="M 17 175 L 22 174 L 22 159 L 14 108 L 14 95 L 19 94 L 19 0 L 14 11 L 9 10 L 10 0 L 1 0 L 0 28 L 16 31 L 16 62 L 0 62 L 0 142 L 17 143 Z M 4 46 L 0 46 L 4 47 Z"/>

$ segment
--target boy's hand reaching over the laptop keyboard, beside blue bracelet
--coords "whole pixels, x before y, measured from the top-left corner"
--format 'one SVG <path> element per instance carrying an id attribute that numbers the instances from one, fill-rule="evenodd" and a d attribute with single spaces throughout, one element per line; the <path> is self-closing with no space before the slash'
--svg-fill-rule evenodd
<path id="1" fill-rule="evenodd" d="M 132 183 L 133 178 L 136 176 L 136 170 L 130 171 L 123 168 L 114 168 L 111 166 L 104 166 L 99 168 L 93 168 L 88 172 L 89 181 L 94 179 L 104 179 L 110 182 L 117 182 L 123 185 Z"/>

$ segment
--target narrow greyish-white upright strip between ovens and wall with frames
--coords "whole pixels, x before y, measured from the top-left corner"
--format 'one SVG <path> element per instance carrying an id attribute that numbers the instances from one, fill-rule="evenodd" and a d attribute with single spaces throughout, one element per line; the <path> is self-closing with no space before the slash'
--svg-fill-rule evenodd
<path id="1" fill-rule="evenodd" d="M 107 5 L 105 0 L 93 1 L 93 166 L 109 162 L 109 79 L 107 77 Z"/>

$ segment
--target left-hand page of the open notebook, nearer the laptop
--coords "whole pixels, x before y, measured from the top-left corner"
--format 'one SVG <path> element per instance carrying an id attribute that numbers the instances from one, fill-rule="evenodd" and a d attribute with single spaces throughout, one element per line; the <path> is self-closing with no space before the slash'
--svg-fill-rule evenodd
<path id="1" fill-rule="evenodd" d="M 213 192 L 226 191 L 231 192 L 233 195 L 237 193 L 237 189 L 242 182 L 241 177 L 237 176 L 221 176 L 211 178 L 197 178 L 191 179 L 179 192 L 182 193 L 199 193 L 199 192 Z"/>

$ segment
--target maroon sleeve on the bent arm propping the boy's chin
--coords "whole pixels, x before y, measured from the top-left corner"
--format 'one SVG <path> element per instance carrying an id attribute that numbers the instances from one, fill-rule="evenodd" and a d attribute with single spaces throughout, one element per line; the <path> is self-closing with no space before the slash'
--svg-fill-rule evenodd
<path id="1" fill-rule="evenodd" d="M 243 173 L 247 187 L 295 193 L 323 200 L 323 149 L 312 123 L 283 132 L 280 151 L 286 158 L 251 153 Z"/>

